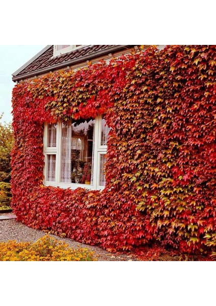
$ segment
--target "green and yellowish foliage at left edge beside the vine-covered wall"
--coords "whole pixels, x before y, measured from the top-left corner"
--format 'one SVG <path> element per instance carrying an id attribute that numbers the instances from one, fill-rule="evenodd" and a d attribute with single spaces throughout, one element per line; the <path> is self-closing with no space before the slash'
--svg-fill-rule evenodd
<path id="1" fill-rule="evenodd" d="M 0 120 L 3 114 L 0 114 Z M 11 201 L 11 150 L 13 134 L 11 123 L 0 121 L 0 210 L 8 209 Z"/>

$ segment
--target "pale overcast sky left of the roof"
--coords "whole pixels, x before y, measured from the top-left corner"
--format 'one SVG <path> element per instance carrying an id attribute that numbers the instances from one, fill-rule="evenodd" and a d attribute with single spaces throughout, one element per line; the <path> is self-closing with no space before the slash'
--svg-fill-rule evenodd
<path id="1" fill-rule="evenodd" d="M 12 121 L 12 73 L 35 56 L 45 45 L 0 45 L 0 113 L 2 121 Z"/>

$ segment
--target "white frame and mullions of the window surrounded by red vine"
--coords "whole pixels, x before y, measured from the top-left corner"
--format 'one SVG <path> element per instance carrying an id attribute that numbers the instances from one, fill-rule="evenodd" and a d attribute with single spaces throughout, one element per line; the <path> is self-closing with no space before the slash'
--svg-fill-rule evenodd
<path id="1" fill-rule="evenodd" d="M 75 184 L 61 182 L 61 141 L 62 141 L 62 123 L 57 123 L 57 145 L 56 147 L 47 147 L 48 143 L 48 124 L 44 124 L 43 134 L 43 154 L 44 154 L 44 186 L 55 186 L 61 188 L 87 188 L 90 190 L 103 190 L 105 186 L 100 186 L 100 155 L 106 154 L 107 146 L 101 146 L 101 120 L 102 116 L 95 118 L 95 133 L 94 133 L 94 164 L 93 164 L 93 184 Z M 46 165 L 47 155 L 56 155 L 56 181 L 46 181 Z"/>

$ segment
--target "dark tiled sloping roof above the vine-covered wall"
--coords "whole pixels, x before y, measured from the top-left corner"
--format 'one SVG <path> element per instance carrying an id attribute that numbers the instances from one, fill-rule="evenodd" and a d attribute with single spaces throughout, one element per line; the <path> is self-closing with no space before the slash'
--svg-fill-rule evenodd
<path id="1" fill-rule="evenodd" d="M 53 57 L 53 45 L 47 45 L 30 61 L 12 75 L 12 80 L 20 81 L 44 74 L 53 70 L 92 60 L 97 57 L 108 55 L 112 52 L 127 50 L 133 45 L 84 45 L 71 52 Z"/>

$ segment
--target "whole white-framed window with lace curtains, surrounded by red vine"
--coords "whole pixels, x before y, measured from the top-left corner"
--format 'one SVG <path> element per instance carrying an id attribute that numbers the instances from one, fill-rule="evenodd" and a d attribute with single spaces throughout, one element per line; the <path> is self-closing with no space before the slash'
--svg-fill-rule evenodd
<path id="1" fill-rule="evenodd" d="M 109 127 L 104 116 L 44 126 L 44 185 L 103 189 Z"/>

